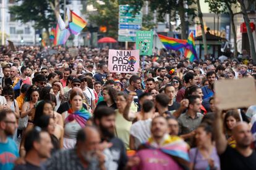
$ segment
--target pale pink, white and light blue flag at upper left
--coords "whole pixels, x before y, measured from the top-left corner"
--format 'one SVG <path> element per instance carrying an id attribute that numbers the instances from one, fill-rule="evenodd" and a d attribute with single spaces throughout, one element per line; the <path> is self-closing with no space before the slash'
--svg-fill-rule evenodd
<path id="1" fill-rule="evenodd" d="M 54 34 L 54 46 L 65 44 L 67 39 L 69 39 L 70 31 L 65 28 L 65 23 L 59 15 L 58 23 L 56 26 L 55 34 Z"/>

